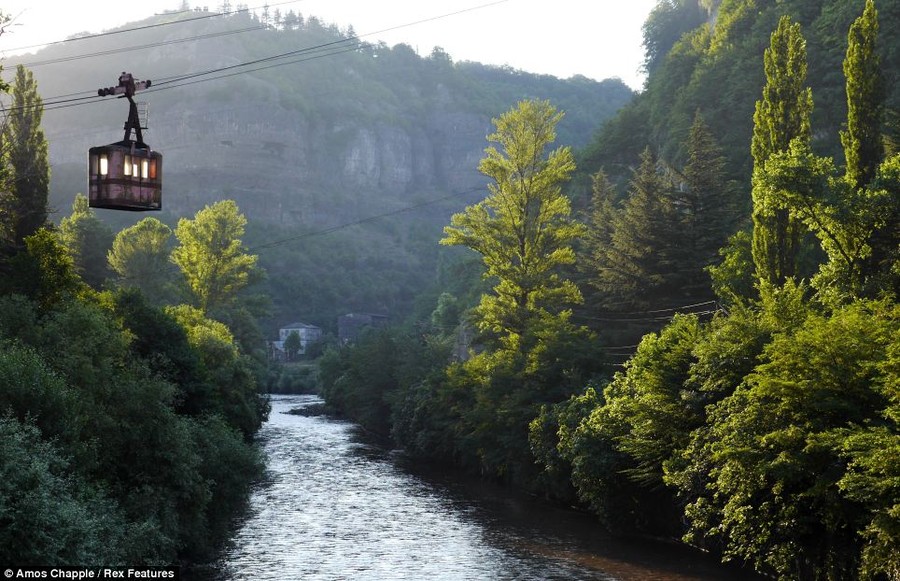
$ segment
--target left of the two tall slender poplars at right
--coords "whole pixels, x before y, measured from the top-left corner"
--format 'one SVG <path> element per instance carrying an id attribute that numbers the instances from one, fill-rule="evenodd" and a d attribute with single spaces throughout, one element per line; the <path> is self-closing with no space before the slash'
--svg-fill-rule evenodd
<path id="1" fill-rule="evenodd" d="M 810 140 L 812 91 L 806 86 L 806 40 L 782 16 L 764 55 L 766 85 L 753 114 L 753 262 L 759 280 L 782 284 L 796 273 L 802 227 L 757 179 L 766 161 L 794 139 Z"/>

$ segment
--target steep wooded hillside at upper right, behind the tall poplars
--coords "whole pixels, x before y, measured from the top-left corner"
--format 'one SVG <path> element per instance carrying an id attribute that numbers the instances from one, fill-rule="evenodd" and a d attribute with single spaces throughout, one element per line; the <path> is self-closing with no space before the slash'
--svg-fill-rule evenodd
<path id="1" fill-rule="evenodd" d="M 750 134 L 754 103 L 765 83 L 763 51 L 783 14 L 799 22 L 807 41 L 809 85 L 815 109 L 813 147 L 841 155 L 839 130 L 847 104 L 841 63 L 847 30 L 864 0 L 666 0 L 644 25 L 648 81 L 645 90 L 598 133 L 581 169 L 601 167 L 617 181 L 631 177 L 641 151 L 650 146 L 676 166 L 685 161 L 684 143 L 700 111 L 724 149 L 732 178 L 749 185 Z M 879 52 L 887 76 L 888 120 L 897 136 L 900 110 L 900 41 L 887 23 L 900 21 L 900 2 L 879 0 Z M 892 116 L 893 115 L 893 116 Z M 749 204 L 743 188 L 742 203 Z"/>

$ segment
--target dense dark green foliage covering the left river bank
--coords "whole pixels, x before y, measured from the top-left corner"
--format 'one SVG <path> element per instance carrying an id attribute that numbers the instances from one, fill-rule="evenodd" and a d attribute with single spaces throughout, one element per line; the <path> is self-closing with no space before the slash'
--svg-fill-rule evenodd
<path id="1" fill-rule="evenodd" d="M 78 195 L 58 229 L 46 224 L 47 143 L 30 73 L 19 69 L 13 93 L 3 139 L 15 143 L 0 158 L 0 561 L 208 559 L 262 472 L 252 436 L 268 404 L 250 344 L 191 305 L 163 310 L 141 293 L 156 289 L 134 275 L 159 264 L 135 268 L 126 239 L 158 231 L 152 223 L 114 244 Z M 228 209 L 206 214 L 239 216 Z M 238 232 L 212 230 L 233 259 Z M 225 300 L 235 287 L 216 286 L 216 304 L 236 308 Z"/>

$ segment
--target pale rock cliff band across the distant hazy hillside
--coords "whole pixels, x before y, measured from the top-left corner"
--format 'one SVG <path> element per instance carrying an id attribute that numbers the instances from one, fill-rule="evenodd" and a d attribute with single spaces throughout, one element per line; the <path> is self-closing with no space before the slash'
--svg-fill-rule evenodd
<path id="1" fill-rule="evenodd" d="M 192 214 L 232 198 L 250 218 L 327 225 L 483 186 L 477 166 L 490 130 L 490 118 L 475 113 L 397 125 L 247 105 L 224 115 L 178 112 L 147 141 L 164 155 L 168 211 Z M 51 146 L 54 163 L 82 156 Z"/>

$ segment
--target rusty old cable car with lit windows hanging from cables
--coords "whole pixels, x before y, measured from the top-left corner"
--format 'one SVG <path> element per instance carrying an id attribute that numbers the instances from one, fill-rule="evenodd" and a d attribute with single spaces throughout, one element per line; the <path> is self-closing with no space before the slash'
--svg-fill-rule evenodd
<path id="1" fill-rule="evenodd" d="M 88 201 L 92 208 L 147 211 L 162 209 L 162 154 L 144 143 L 134 93 L 151 81 L 135 81 L 130 73 L 119 76 L 119 85 L 97 94 L 128 99 L 125 138 L 88 151 Z M 131 138 L 134 130 L 136 139 Z"/>

